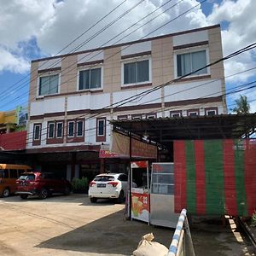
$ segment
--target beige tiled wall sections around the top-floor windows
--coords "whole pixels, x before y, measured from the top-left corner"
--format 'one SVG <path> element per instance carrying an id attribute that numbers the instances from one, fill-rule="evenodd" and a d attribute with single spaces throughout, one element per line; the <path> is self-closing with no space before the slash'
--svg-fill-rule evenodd
<path id="1" fill-rule="evenodd" d="M 150 40 L 150 39 L 148 39 Z M 128 46 L 129 47 L 129 46 Z M 208 29 L 208 45 L 206 46 L 209 50 L 209 61 L 217 61 L 222 58 L 222 44 L 221 44 L 221 34 L 220 27 L 213 26 Z M 193 49 L 190 47 L 189 49 Z M 188 49 L 188 50 L 189 50 Z M 133 86 L 131 88 L 125 88 L 122 90 L 122 63 L 126 60 L 121 59 L 121 46 L 113 46 L 108 47 L 106 49 L 102 49 L 104 51 L 104 60 L 102 64 L 94 64 L 91 67 L 95 67 L 95 65 L 100 65 L 102 67 L 102 91 L 93 92 L 96 94 L 109 94 L 110 103 L 113 102 L 113 92 L 118 91 L 132 91 L 137 90 L 137 86 Z M 79 54 L 79 53 L 78 53 Z M 167 35 L 159 38 L 151 39 L 151 81 L 152 84 L 145 83 L 139 84 L 138 88 L 149 89 L 154 86 L 158 86 L 160 84 L 166 84 L 173 79 L 175 79 L 174 72 L 174 51 L 173 51 L 173 36 Z M 82 90 L 78 91 L 78 80 L 79 80 L 79 70 L 83 68 L 90 67 L 84 65 L 84 67 L 77 66 L 78 55 L 65 55 L 61 57 L 61 71 L 57 71 L 54 73 L 60 73 L 61 86 L 59 93 L 61 96 L 69 96 L 71 94 L 89 94 L 92 93 L 90 91 Z M 135 59 L 136 60 L 136 59 Z M 224 77 L 224 65 L 223 62 L 219 62 L 218 64 L 210 67 L 211 77 L 205 78 L 207 79 L 220 79 Z M 30 102 L 36 101 L 37 93 L 38 93 L 38 61 L 32 62 L 32 79 L 30 84 Z M 195 80 L 194 80 L 195 81 Z M 173 86 L 179 86 L 180 83 L 173 83 Z M 136 84 L 135 84 L 136 85 Z M 136 88 L 135 88 L 136 87 Z M 224 80 L 222 81 L 222 89 L 223 92 L 225 90 Z M 164 97 L 164 88 L 161 88 L 161 107 L 165 108 L 165 97 Z M 58 97 L 50 96 L 50 97 Z M 49 96 L 45 96 L 45 98 L 49 98 Z M 42 99 L 38 99 L 41 101 Z M 225 99 L 223 99 L 223 104 L 225 105 Z M 102 106 L 103 108 L 104 106 Z M 125 110 L 122 110 L 123 112 Z M 148 110 L 150 112 L 150 109 Z M 143 110 L 137 111 L 142 112 Z M 125 113 L 124 113 L 125 114 Z"/>

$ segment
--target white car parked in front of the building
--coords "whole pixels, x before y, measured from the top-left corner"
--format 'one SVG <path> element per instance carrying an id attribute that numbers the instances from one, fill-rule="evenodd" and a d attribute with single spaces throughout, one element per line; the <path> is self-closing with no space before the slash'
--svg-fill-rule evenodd
<path id="1" fill-rule="evenodd" d="M 128 186 L 126 174 L 102 173 L 90 182 L 88 195 L 91 202 L 96 202 L 98 198 L 113 198 L 121 203 L 125 201 Z"/>

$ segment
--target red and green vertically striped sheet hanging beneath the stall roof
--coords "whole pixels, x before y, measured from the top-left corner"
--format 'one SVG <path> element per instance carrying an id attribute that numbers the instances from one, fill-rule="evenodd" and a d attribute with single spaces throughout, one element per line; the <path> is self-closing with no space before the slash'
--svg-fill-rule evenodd
<path id="1" fill-rule="evenodd" d="M 175 212 L 251 216 L 256 210 L 256 141 L 174 142 Z"/>

